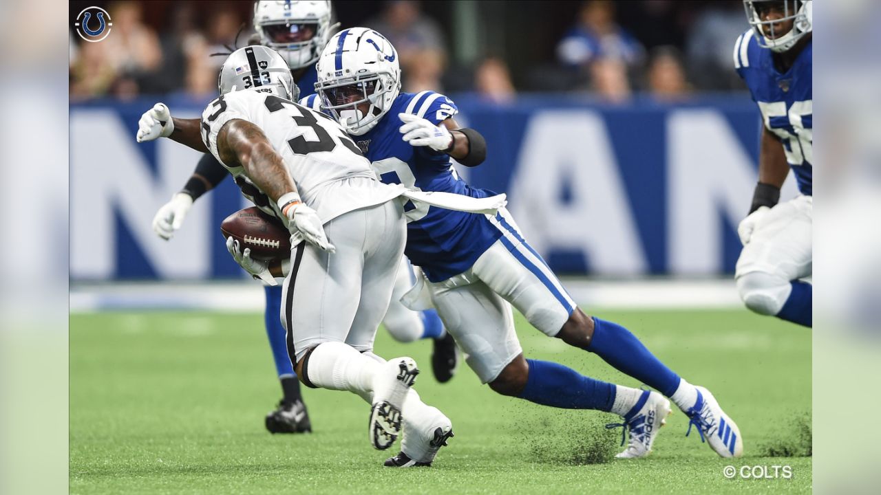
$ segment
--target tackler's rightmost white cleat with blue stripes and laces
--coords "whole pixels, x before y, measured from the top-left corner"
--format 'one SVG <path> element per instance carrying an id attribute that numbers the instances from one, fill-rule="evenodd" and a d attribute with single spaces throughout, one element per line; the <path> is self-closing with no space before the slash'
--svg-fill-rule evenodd
<path id="1" fill-rule="evenodd" d="M 692 426 L 697 426 L 700 433 L 700 441 L 707 441 L 716 454 L 722 457 L 740 457 L 744 454 L 744 439 L 740 436 L 740 430 L 725 411 L 719 407 L 713 394 L 707 388 L 698 389 L 698 402 L 685 414 L 691 419 L 688 424 L 688 432 L 692 432 Z"/>

